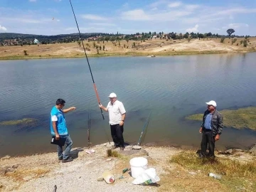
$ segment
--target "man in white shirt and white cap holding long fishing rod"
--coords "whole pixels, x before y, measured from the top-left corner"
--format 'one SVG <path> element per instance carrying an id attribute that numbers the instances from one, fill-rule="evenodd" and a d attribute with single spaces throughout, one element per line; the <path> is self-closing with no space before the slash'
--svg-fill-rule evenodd
<path id="1" fill-rule="evenodd" d="M 120 150 L 124 150 L 124 119 L 126 111 L 122 102 L 117 100 L 117 95 L 112 92 L 110 93 L 110 102 L 107 104 L 107 107 L 99 105 L 102 110 L 109 112 L 110 116 L 110 129 L 111 135 L 114 142 L 113 149 L 120 147 Z"/>

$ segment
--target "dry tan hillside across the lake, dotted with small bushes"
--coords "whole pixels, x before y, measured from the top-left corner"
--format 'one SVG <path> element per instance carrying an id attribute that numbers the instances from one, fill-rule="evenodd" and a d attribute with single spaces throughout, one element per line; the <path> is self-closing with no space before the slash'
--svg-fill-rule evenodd
<path id="1" fill-rule="evenodd" d="M 181 54 L 199 54 L 199 53 L 238 53 L 256 51 L 256 38 L 249 38 L 248 46 L 243 47 L 240 41 L 244 38 L 238 38 L 232 44 L 232 39 L 225 38 L 224 43 L 220 43 L 220 38 L 192 39 L 188 42 L 182 40 L 161 40 L 159 38 L 142 41 L 120 41 L 116 44 L 108 41 L 97 43 L 96 46 L 105 46 L 105 50 L 94 48 L 92 41 L 84 41 L 89 56 L 108 56 L 108 55 L 181 55 Z M 134 46 L 135 43 L 135 46 Z M 127 48 L 128 46 L 128 48 Z M 134 46 L 134 47 L 133 47 Z M 24 50 L 28 55 L 25 55 Z M 59 43 L 40 46 L 1 46 L 0 59 L 19 59 L 19 58 L 65 58 L 65 57 L 83 57 L 84 50 L 78 43 Z"/>

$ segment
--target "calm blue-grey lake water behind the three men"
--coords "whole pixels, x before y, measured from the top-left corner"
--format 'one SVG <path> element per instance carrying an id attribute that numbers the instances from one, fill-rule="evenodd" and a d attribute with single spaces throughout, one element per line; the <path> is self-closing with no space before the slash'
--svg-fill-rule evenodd
<path id="1" fill-rule="evenodd" d="M 143 144 L 200 147 L 201 122 L 185 116 L 203 113 L 209 100 L 218 110 L 256 106 L 256 53 L 89 60 L 102 105 L 110 92 L 124 103 L 124 139 L 131 144 L 138 142 L 149 112 Z M 55 151 L 49 118 L 59 97 L 66 107 L 77 107 L 65 115 L 74 146 L 87 146 L 88 113 L 92 144 L 111 139 L 85 58 L 2 60 L 0 78 L 0 121 L 37 119 L 28 127 L 0 126 L 0 156 Z M 216 147 L 246 149 L 255 143 L 256 132 L 225 128 Z"/>

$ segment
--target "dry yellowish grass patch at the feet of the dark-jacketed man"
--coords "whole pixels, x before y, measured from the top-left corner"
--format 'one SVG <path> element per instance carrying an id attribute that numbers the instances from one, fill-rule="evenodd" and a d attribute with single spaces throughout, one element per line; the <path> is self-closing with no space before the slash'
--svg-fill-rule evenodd
<path id="1" fill-rule="evenodd" d="M 256 161 L 199 159 L 194 152 L 186 151 L 174 155 L 169 164 L 176 168 L 166 169 L 161 176 L 160 191 L 256 191 Z M 210 172 L 223 177 L 216 180 L 208 176 Z"/>

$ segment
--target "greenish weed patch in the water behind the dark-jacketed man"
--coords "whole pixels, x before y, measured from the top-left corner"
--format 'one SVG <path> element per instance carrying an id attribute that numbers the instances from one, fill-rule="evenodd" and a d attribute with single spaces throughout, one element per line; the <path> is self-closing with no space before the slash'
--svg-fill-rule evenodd
<path id="1" fill-rule="evenodd" d="M 256 107 L 245 107 L 238 110 L 221 110 L 220 113 L 223 114 L 225 127 L 256 130 Z M 185 119 L 202 121 L 203 114 L 192 114 L 185 117 Z"/>

